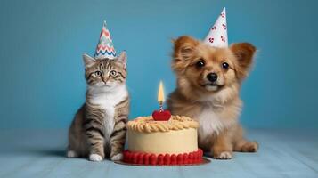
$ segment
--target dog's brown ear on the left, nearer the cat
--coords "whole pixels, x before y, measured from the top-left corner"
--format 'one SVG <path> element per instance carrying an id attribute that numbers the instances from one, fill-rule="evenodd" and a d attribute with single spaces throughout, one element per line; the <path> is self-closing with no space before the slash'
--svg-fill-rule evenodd
<path id="1" fill-rule="evenodd" d="M 183 71 L 190 64 L 199 41 L 190 36 L 180 36 L 172 42 L 175 45 L 172 68 L 175 71 Z"/>

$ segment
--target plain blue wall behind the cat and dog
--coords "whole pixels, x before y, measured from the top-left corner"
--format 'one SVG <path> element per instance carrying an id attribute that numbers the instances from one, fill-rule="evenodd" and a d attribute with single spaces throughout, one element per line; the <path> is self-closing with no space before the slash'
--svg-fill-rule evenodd
<path id="1" fill-rule="evenodd" d="M 85 101 L 82 53 L 107 20 L 128 55 L 131 118 L 175 88 L 171 38 L 202 39 L 225 6 L 229 40 L 258 48 L 245 81 L 246 127 L 318 127 L 317 1 L 16 1 L 0 3 L 0 128 L 67 128 Z"/>

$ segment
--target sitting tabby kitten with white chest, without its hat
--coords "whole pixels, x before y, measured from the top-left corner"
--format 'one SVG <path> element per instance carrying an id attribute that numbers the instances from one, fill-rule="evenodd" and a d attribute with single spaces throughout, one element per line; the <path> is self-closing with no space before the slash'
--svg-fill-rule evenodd
<path id="1" fill-rule="evenodd" d="M 114 59 L 95 60 L 83 54 L 86 103 L 69 127 L 67 156 L 102 161 L 123 158 L 129 94 L 126 89 L 126 52 Z"/>

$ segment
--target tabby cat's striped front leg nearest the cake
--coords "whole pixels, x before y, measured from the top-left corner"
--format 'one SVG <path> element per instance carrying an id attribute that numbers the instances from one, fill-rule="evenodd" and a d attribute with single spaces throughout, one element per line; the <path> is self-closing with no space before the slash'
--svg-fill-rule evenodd
<path id="1" fill-rule="evenodd" d="M 110 135 L 110 159 L 118 161 L 123 159 L 123 150 L 126 140 L 126 123 L 122 120 L 116 123 Z"/>

